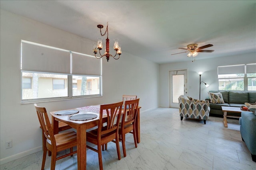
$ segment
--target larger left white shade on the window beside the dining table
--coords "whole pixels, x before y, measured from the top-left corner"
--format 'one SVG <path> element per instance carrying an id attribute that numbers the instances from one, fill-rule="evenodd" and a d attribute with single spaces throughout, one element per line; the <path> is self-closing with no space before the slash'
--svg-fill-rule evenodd
<path id="1" fill-rule="evenodd" d="M 22 70 L 70 74 L 70 53 L 22 42 Z"/>

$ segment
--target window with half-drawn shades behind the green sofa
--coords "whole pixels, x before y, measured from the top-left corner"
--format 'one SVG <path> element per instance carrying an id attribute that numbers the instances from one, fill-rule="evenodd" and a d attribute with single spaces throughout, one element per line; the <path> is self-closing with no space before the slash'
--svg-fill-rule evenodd
<path id="1" fill-rule="evenodd" d="M 256 64 L 218 67 L 218 90 L 256 90 Z"/>

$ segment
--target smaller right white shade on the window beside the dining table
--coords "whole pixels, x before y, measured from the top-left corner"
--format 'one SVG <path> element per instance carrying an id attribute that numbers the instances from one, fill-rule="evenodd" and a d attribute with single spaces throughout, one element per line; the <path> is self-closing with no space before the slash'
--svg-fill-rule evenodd
<path id="1" fill-rule="evenodd" d="M 101 75 L 101 60 L 72 53 L 72 74 Z"/>

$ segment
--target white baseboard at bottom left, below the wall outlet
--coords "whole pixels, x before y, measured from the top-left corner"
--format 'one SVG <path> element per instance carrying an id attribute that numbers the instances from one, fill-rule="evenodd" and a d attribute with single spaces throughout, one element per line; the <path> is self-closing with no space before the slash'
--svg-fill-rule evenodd
<path id="1" fill-rule="evenodd" d="M 8 162 L 11 162 L 11 161 L 16 160 L 18 158 L 22 158 L 24 156 L 28 156 L 28 155 L 36 153 L 36 152 L 38 152 L 40 150 L 42 150 L 42 146 L 30 149 L 30 150 L 26 150 L 24 152 L 20 152 L 18 154 L 14 154 L 14 155 L 8 156 L 6 158 L 2 158 L 2 159 L 0 159 L 0 165 L 6 164 Z"/>

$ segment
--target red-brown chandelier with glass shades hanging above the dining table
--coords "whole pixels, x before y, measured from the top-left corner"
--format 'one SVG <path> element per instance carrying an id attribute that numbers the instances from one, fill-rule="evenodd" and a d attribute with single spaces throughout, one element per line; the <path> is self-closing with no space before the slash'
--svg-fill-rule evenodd
<path id="1" fill-rule="evenodd" d="M 97 59 L 101 59 L 103 56 L 106 56 L 107 61 L 109 60 L 110 56 L 113 57 L 116 60 L 119 59 L 120 55 L 122 54 L 122 51 L 121 51 L 121 47 L 120 47 L 121 45 L 118 44 L 118 39 L 114 39 L 114 47 L 113 47 L 114 50 L 116 51 L 116 55 L 118 55 L 118 58 L 115 58 L 116 55 L 113 56 L 109 53 L 108 23 L 107 23 L 106 31 L 103 35 L 101 33 L 101 29 L 103 28 L 103 25 L 97 25 L 97 27 L 100 29 L 100 35 L 101 36 L 104 36 L 107 33 L 107 39 L 106 39 L 106 48 L 105 48 L 104 55 L 102 55 L 100 53 L 100 50 L 102 50 L 102 48 L 103 48 L 102 38 L 98 38 L 98 43 L 94 43 L 94 47 L 93 47 L 94 48 L 93 49 L 94 56 L 96 57 L 96 54 L 98 53 L 98 50 L 99 50 L 99 53 L 100 53 L 101 57 L 96 57 Z"/>

